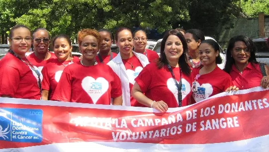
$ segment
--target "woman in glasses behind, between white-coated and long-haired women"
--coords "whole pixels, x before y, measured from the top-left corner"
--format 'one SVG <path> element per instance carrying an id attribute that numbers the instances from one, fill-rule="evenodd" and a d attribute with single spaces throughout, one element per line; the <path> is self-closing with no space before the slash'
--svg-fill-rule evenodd
<path id="1" fill-rule="evenodd" d="M 138 29 L 133 32 L 134 38 L 134 52 L 141 53 L 147 56 L 149 62 L 157 61 L 159 59 L 159 55 L 157 52 L 152 51 L 150 49 L 145 49 L 147 46 L 147 34 L 144 30 Z"/>

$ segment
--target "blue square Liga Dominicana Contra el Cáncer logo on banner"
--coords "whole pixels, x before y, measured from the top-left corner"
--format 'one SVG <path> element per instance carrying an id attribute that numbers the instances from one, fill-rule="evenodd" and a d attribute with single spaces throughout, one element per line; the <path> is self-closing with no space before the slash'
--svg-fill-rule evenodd
<path id="1" fill-rule="evenodd" d="M 40 109 L 0 108 L 0 141 L 42 142 L 42 117 Z"/>

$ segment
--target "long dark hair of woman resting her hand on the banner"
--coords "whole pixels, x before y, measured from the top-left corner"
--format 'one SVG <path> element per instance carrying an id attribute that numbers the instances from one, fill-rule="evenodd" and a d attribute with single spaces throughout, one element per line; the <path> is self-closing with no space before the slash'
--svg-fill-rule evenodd
<path id="1" fill-rule="evenodd" d="M 170 30 L 170 31 L 167 31 L 165 33 L 164 38 L 161 42 L 161 55 L 160 55 L 159 61 L 157 63 L 157 66 L 159 69 L 161 69 L 162 67 L 164 67 L 164 65 L 168 64 L 168 61 L 167 61 L 167 58 L 166 58 L 164 51 L 165 51 L 165 43 L 170 35 L 176 35 L 177 37 L 179 37 L 179 39 L 182 43 L 183 54 L 179 57 L 179 66 L 181 68 L 182 73 L 185 74 L 186 76 L 189 76 L 190 75 L 190 67 L 189 67 L 187 60 L 186 60 L 187 59 L 186 52 L 188 50 L 187 42 L 186 42 L 185 38 L 183 37 L 183 35 L 179 32 L 179 30 Z"/>

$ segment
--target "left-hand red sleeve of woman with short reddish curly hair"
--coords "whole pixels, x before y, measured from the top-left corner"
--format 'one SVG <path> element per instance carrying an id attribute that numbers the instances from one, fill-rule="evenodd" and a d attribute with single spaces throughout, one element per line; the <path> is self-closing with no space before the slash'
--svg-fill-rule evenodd
<path id="1" fill-rule="evenodd" d="M 66 67 L 54 91 L 52 100 L 71 101 L 71 93 L 72 93 L 71 83 L 72 83 L 72 76 L 70 75 L 68 67 Z"/>

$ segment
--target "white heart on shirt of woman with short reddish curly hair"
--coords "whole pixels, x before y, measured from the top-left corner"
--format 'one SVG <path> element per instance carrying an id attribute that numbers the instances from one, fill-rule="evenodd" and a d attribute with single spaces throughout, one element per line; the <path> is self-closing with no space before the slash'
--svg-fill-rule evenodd
<path id="1" fill-rule="evenodd" d="M 82 88 L 88 93 L 92 102 L 96 104 L 98 99 L 108 90 L 108 81 L 103 77 L 96 80 L 91 76 L 86 76 L 82 80 Z"/>

